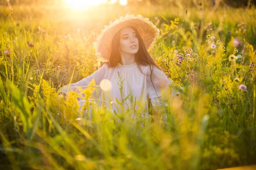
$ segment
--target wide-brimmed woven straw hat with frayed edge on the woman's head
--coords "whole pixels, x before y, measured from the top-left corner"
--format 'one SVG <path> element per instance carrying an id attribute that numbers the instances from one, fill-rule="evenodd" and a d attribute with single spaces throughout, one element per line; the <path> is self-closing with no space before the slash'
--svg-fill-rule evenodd
<path id="1" fill-rule="evenodd" d="M 96 55 L 103 59 L 109 59 L 111 54 L 111 44 L 114 35 L 122 28 L 134 27 L 140 34 L 145 47 L 152 47 L 154 41 L 159 36 L 159 29 L 148 18 L 142 15 L 134 16 L 126 14 L 119 17 L 114 22 L 110 22 L 108 26 L 104 26 L 102 33 L 93 42 L 96 49 Z"/>

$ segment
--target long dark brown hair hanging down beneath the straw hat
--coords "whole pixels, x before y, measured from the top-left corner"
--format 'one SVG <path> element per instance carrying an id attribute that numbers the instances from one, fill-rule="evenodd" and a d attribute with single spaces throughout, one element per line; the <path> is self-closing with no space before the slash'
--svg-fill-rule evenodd
<path id="1" fill-rule="evenodd" d="M 157 63 L 154 61 L 154 59 L 148 53 L 147 48 L 145 47 L 144 42 L 143 42 L 142 38 L 140 37 L 140 34 L 137 31 L 137 29 L 134 27 L 131 27 L 131 28 L 133 28 L 134 31 L 136 32 L 137 38 L 139 40 L 139 51 L 135 54 L 135 61 L 137 62 L 137 66 L 142 74 L 144 74 L 144 73 L 141 70 L 140 65 L 149 65 L 149 68 L 151 70 L 150 80 L 154 87 L 154 84 L 152 82 L 152 74 L 153 74 L 154 66 L 161 71 L 163 71 L 163 69 L 160 68 L 159 65 L 157 65 Z M 111 67 L 111 68 L 116 67 L 116 65 L 118 63 L 122 64 L 121 55 L 119 53 L 119 38 L 120 38 L 120 31 L 118 31 L 112 39 L 111 55 L 110 55 L 109 60 L 107 62 L 104 62 L 104 63 L 108 64 L 108 67 Z M 102 63 L 102 65 L 104 63 Z M 154 87 L 154 90 L 156 92 L 155 87 Z M 157 92 L 156 92 L 156 94 L 157 94 Z"/>

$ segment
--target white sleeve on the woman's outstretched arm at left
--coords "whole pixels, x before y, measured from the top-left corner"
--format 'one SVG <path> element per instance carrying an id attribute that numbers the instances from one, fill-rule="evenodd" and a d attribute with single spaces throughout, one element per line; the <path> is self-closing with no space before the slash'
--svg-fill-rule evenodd
<path id="1" fill-rule="evenodd" d="M 104 78 L 105 73 L 108 69 L 108 65 L 107 64 L 103 64 L 102 67 L 100 67 L 97 71 L 95 71 L 93 74 L 91 74 L 90 76 L 81 79 L 79 82 L 76 83 L 71 83 L 70 85 L 64 85 L 62 86 L 58 93 L 64 93 L 66 94 L 68 91 L 76 91 L 79 92 L 79 88 L 87 88 L 87 86 L 90 84 L 90 82 L 94 79 L 96 85 L 99 85 L 99 83 L 101 82 L 101 80 Z"/>

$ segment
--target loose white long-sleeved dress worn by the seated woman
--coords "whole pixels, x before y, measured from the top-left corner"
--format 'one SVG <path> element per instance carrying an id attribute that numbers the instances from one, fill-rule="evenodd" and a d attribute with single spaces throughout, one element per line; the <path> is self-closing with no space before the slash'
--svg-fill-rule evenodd
<path id="1" fill-rule="evenodd" d="M 122 98 L 127 98 L 122 103 L 123 109 L 125 109 L 125 111 L 134 108 L 140 108 L 140 111 L 142 111 L 144 115 L 148 115 L 149 99 L 151 99 L 151 104 L 154 110 L 157 111 L 158 106 L 161 105 L 160 91 L 163 89 L 167 89 L 172 83 L 172 80 L 169 80 L 168 77 L 163 73 L 163 71 L 160 71 L 155 66 L 153 69 L 153 67 L 151 66 L 150 68 L 149 65 L 140 65 L 140 68 L 143 73 L 138 68 L 136 62 L 131 65 L 119 65 L 114 68 L 110 68 L 107 64 L 103 64 L 101 68 L 99 68 L 90 76 L 81 79 L 79 82 L 70 84 L 69 91 L 73 90 L 79 92 L 79 87 L 87 88 L 86 86 L 89 85 L 92 79 L 94 79 L 97 85 L 98 96 L 96 95 L 96 91 L 94 91 L 93 98 L 98 99 L 99 106 L 105 106 L 108 109 L 111 108 L 113 113 L 120 113 L 122 110 L 122 106 L 118 104 L 118 101 L 121 102 Z M 150 79 L 151 69 L 153 69 L 153 74 Z M 121 96 L 120 81 L 122 80 L 123 83 L 121 89 Z M 101 81 L 102 83 L 100 83 Z M 99 86 L 100 84 L 102 88 Z M 106 91 L 104 85 L 106 86 L 109 84 L 110 90 Z M 63 92 L 66 94 L 67 88 L 68 85 L 64 85 L 60 88 L 59 92 Z M 79 100 L 79 103 L 79 109 L 81 109 L 84 100 Z"/>

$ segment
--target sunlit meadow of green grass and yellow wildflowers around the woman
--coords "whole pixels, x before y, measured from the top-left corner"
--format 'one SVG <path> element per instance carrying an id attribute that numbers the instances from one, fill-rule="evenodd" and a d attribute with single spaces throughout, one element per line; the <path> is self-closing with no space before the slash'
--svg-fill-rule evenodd
<path id="1" fill-rule="evenodd" d="M 149 52 L 172 79 L 170 92 L 179 94 L 163 95 L 167 105 L 145 127 L 142 118 L 112 115 L 93 104 L 87 119 L 78 111 L 78 94 L 65 100 L 57 93 L 99 68 L 92 43 L 103 26 L 127 12 L 160 29 Z M 255 60 L 255 7 L 0 6 L 0 168 L 215 170 L 256 164 Z M 92 84 L 85 99 L 94 89 Z"/>

